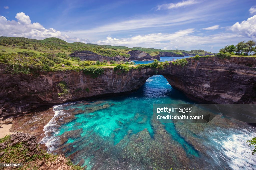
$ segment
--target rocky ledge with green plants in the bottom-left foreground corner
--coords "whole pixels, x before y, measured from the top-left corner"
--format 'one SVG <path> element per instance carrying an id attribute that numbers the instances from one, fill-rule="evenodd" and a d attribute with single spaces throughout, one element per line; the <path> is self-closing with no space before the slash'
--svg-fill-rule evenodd
<path id="1" fill-rule="evenodd" d="M 53 155 L 41 149 L 36 136 L 28 133 L 16 133 L 0 139 L 0 162 L 22 163 L 17 169 L 83 169 L 63 156 Z"/>

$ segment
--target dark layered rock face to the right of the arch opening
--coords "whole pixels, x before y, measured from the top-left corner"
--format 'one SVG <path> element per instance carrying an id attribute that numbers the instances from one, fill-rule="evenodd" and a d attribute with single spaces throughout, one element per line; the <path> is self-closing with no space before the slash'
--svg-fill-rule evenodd
<path id="1" fill-rule="evenodd" d="M 256 58 L 188 59 L 182 67 L 160 71 L 172 87 L 192 99 L 212 103 L 256 103 Z"/>

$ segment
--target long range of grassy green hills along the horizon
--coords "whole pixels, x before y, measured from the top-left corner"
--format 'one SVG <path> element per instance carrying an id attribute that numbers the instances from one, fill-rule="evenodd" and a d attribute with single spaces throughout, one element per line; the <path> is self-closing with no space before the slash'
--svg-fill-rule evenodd
<path id="1" fill-rule="evenodd" d="M 70 54 L 73 51 L 89 50 L 94 53 L 104 56 L 125 56 L 129 57 L 126 53 L 130 50 L 141 50 L 151 55 L 157 55 L 159 52 L 173 52 L 175 54 L 188 53 L 193 55 L 205 55 L 214 53 L 204 50 L 162 50 L 157 48 L 133 47 L 126 46 L 112 46 L 112 45 L 98 45 L 98 44 L 85 44 L 81 42 L 68 43 L 59 38 L 45 38 L 44 40 L 36 40 L 25 37 L 0 37 L 0 50 L 2 52 L 18 52 L 18 51 L 33 51 L 35 53 L 59 53 L 65 52 Z M 0 51 L 1 52 L 1 51 Z"/>

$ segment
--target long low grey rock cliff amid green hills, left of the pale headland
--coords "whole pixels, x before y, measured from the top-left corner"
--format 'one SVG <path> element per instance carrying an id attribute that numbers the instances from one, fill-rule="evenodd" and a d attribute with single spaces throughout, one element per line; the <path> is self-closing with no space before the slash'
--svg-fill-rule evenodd
<path id="1" fill-rule="evenodd" d="M 102 56 L 97 53 L 93 53 L 92 51 L 76 51 L 74 53 L 71 53 L 69 56 L 71 57 L 79 57 L 82 61 L 100 61 L 103 62 L 104 60 L 110 61 L 124 61 L 127 62 L 129 61 L 126 57 L 124 56 L 115 56 L 115 57 L 109 57 L 109 56 Z"/>

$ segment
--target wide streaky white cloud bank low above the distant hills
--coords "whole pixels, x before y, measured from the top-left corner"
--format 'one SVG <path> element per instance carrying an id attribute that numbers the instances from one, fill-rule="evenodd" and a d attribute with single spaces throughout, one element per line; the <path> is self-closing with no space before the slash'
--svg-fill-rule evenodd
<path id="1" fill-rule="evenodd" d="M 108 36 L 106 40 L 94 42 L 96 44 L 108 45 L 125 45 L 128 47 L 152 47 L 158 49 L 198 49 L 198 48 L 213 48 L 216 51 L 220 47 L 229 43 L 236 44 L 241 40 L 238 34 L 222 33 L 208 36 L 193 35 L 196 30 L 186 29 L 179 30 L 175 33 L 152 33 L 147 35 L 137 35 L 129 38 L 113 38 Z"/>

